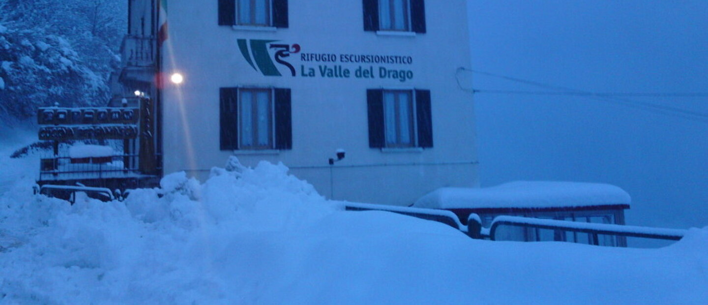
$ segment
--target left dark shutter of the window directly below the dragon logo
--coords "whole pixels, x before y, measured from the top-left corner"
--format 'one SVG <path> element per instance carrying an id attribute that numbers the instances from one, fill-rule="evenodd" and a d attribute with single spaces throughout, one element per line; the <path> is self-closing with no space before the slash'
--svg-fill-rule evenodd
<path id="1" fill-rule="evenodd" d="M 239 149 L 238 96 L 238 88 L 219 88 L 219 147 L 221 150 Z"/>

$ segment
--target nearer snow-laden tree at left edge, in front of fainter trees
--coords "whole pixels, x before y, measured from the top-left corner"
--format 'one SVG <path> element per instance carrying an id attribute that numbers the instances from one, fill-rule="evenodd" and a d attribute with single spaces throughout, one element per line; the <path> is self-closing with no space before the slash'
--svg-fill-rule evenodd
<path id="1" fill-rule="evenodd" d="M 71 44 L 38 30 L 0 25 L 0 110 L 31 117 L 38 106 L 96 105 L 105 102 L 105 79 L 81 61 Z"/>

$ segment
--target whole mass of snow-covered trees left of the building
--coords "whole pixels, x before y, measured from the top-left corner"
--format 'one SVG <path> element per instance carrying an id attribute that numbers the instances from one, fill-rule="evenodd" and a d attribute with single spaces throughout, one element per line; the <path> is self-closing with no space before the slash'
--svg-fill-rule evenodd
<path id="1" fill-rule="evenodd" d="M 125 33 L 122 0 L 0 0 L 0 116 L 103 105 Z"/>

